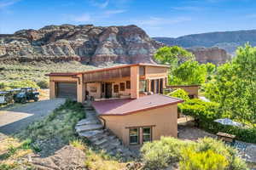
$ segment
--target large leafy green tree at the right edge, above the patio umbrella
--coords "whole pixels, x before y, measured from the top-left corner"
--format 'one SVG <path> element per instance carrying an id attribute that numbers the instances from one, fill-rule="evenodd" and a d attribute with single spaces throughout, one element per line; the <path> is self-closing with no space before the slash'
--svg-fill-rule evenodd
<path id="1" fill-rule="evenodd" d="M 206 86 L 209 99 L 220 104 L 223 116 L 256 127 L 256 48 L 246 44 L 236 57 L 218 67 Z"/>

